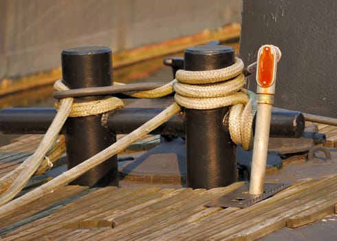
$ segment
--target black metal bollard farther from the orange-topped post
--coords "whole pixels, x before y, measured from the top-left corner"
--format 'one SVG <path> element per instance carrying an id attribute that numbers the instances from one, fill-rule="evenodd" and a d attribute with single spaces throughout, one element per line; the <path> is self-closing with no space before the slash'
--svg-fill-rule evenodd
<path id="1" fill-rule="evenodd" d="M 62 52 L 63 82 L 70 88 L 99 87 L 111 85 L 111 50 L 106 47 L 69 48 Z M 95 101 L 105 96 L 75 98 L 74 102 Z M 82 163 L 116 142 L 116 134 L 101 125 L 102 114 L 68 118 L 65 136 L 68 169 Z M 118 186 L 117 156 L 94 167 L 74 180 L 72 184 Z"/>

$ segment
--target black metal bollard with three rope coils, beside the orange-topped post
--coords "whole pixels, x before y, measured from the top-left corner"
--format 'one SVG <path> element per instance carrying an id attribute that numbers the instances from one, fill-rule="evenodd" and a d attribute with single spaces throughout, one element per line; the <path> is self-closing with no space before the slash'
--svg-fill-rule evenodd
<path id="1" fill-rule="evenodd" d="M 235 52 L 223 45 L 188 48 L 185 70 L 217 70 L 232 65 Z M 237 181 L 236 147 L 224 127 L 229 107 L 186 109 L 187 186 L 211 189 Z"/>

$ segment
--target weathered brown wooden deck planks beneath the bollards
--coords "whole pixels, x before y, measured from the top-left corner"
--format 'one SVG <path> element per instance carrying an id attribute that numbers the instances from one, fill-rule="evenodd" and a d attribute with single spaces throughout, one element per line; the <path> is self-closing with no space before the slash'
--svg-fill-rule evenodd
<path id="1" fill-rule="evenodd" d="M 329 128 L 329 132 L 334 129 Z M 40 138 L 26 136 L 16 145 L 1 147 L 0 174 L 30 155 Z M 242 185 L 243 182 L 237 182 L 210 190 L 144 185 L 87 189 L 69 185 L 0 218 L 0 237 L 1 240 L 255 240 L 282 227 L 299 227 L 337 211 L 337 174 L 298 180 L 272 198 L 245 209 L 204 207 L 210 200 Z"/>

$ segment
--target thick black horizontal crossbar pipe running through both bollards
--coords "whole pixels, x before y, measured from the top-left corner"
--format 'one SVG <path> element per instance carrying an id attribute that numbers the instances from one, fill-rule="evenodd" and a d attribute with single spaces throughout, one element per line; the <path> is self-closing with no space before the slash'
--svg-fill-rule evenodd
<path id="1" fill-rule="evenodd" d="M 129 134 L 164 109 L 124 108 L 108 114 L 107 126 L 116 134 Z M 53 108 L 4 108 L 0 110 L 0 132 L 3 134 L 44 134 L 56 114 Z M 305 122 L 301 112 L 273 111 L 270 137 L 300 137 Z M 253 125 L 254 129 L 255 125 Z M 228 122 L 224 122 L 228 129 Z M 184 135 L 184 115 L 173 116 L 151 134 Z M 311 137 L 310 137 L 311 138 Z M 318 137 L 314 137 L 315 139 Z M 321 137 L 320 137 L 321 138 Z"/>

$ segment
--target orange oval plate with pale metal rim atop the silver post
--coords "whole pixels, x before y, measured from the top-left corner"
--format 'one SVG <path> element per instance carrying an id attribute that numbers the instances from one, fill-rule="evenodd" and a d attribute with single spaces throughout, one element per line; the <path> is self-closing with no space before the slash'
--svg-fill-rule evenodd
<path id="1" fill-rule="evenodd" d="M 269 87 L 274 83 L 276 53 L 270 46 L 259 51 L 257 63 L 257 82 L 261 87 Z"/>

